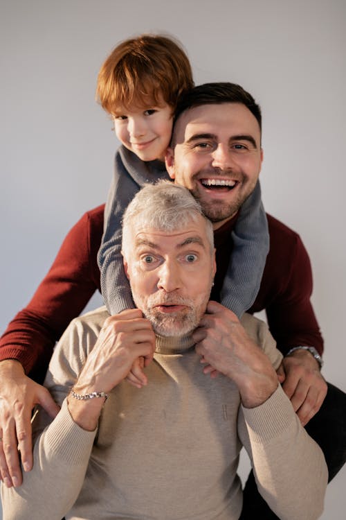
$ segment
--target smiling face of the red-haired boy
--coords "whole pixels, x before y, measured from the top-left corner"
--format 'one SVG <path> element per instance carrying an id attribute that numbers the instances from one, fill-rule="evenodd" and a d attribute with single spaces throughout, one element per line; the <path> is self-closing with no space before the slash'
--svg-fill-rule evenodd
<path id="1" fill-rule="evenodd" d="M 172 107 L 164 102 L 160 106 L 119 106 L 114 116 L 116 137 L 142 161 L 163 161 L 172 135 L 172 115 Z"/>

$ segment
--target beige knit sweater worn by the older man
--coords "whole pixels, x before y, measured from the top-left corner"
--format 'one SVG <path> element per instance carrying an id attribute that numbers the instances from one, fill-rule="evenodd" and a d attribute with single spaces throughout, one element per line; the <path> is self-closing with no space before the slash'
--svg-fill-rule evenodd
<path id="1" fill-rule="evenodd" d="M 188 339 L 158 340 L 149 384 L 123 381 L 96 431 L 71 419 L 66 395 L 108 314 L 73 320 L 55 349 L 46 385 L 62 410 L 41 412 L 34 469 L 17 489 L 2 487 L 3 520 L 237 520 L 242 446 L 260 492 L 281 519 L 317 519 L 327 467 L 279 386 L 261 406 L 243 408 L 230 379 L 211 379 Z M 242 320 L 276 368 L 281 354 L 263 322 Z"/>

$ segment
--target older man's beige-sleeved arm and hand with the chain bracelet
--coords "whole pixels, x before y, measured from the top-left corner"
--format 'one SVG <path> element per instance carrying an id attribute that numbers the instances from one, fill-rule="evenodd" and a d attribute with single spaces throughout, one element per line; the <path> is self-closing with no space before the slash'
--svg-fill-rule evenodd
<path id="1" fill-rule="evenodd" d="M 135 358 L 143 356 L 147 363 L 152 360 L 154 332 L 138 309 L 112 316 L 100 331 L 104 314 L 101 318 L 74 320 L 55 349 L 46 385 L 62 410 L 48 426 L 44 414 L 39 420 L 34 467 L 25 474 L 23 485 L 1 489 L 4 520 L 48 520 L 52 511 L 60 519 L 78 498 L 100 413 L 103 408 L 107 415 L 107 403 L 104 406 L 102 398 L 67 397 L 71 386 L 80 394 L 100 389 L 110 392 L 125 379 Z"/>

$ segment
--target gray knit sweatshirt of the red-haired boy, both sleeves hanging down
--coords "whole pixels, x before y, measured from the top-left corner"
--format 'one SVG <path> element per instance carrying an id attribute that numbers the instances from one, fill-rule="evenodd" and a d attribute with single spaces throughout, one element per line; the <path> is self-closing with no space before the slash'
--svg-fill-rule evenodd
<path id="1" fill-rule="evenodd" d="M 143 162 L 120 146 L 104 210 L 104 234 L 98 253 L 102 295 L 111 314 L 135 307 L 120 252 L 122 214 L 145 183 L 158 179 L 169 179 L 163 162 Z M 259 182 L 239 211 L 232 240 L 233 251 L 220 301 L 240 318 L 255 301 L 269 250 L 268 223 Z"/>

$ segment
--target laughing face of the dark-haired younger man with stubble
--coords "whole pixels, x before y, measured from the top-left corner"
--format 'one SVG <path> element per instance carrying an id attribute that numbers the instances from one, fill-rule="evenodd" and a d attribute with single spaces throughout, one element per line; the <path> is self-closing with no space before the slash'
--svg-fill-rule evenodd
<path id="1" fill-rule="evenodd" d="M 170 177 L 190 190 L 217 229 L 255 189 L 263 155 L 257 119 L 241 103 L 193 107 L 176 121 L 172 143 Z"/>

